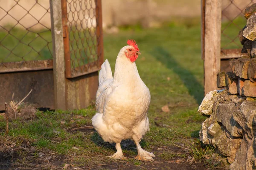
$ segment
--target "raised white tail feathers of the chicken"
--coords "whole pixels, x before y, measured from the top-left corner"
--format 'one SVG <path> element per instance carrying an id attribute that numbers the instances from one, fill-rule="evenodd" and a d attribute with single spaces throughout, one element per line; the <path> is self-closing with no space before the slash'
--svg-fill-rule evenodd
<path id="1" fill-rule="evenodd" d="M 104 82 L 106 79 L 113 79 L 108 59 L 103 62 L 101 68 L 102 69 L 99 71 L 99 85 L 102 84 L 102 82 Z"/>

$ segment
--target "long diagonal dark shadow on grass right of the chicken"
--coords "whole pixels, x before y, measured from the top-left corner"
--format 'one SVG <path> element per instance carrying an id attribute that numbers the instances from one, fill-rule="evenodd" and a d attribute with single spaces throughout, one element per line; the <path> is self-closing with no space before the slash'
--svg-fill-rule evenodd
<path id="1" fill-rule="evenodd" d="M 153 56 L 158 61 L 163 65 L 166 65 L 167 68 L 172 69 L 175 74 L 180 77 L 186 88 L 189 90 L 189 94 L 194 97 L 198 104 L 200 104 L 204 97 L 204 87 L 197 81 L 193 73 L 187 68 L 179 65 L 172 54 L 169 54 L 164 48 L 156 47 L 152 52 Z"/>

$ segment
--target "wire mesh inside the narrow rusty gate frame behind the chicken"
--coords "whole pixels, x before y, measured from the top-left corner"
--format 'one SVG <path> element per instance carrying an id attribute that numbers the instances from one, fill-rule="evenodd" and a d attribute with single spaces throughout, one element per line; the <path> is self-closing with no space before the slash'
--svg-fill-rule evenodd
<path id="1" fill-rule="evenodd" d="M 98 67 L 96 1 L 67 0 L 67 26 L 71 74 L 83 74 Z"/>

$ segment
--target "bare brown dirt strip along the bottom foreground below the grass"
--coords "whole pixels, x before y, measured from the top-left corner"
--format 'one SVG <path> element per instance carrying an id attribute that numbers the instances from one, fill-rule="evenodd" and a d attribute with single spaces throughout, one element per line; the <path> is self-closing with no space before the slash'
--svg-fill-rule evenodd
<path id="1" fill-rule="evenodd" d="M 93 130 L 84 130 L 84 133 L 90 133 L 90 131 Z M 8 136 L 6 137 L 8 138 Z M 9 146 L 6 146 L 8 144 L 0 144 L 1 170 L 224 170 L 224 168 L 209 167 L 209 165 L 205 164 L 203 161 L 195 161 L 189 155 L 185 158 L 175 156 L 168 161 L 160 157 L 164 150 L 177 153 L 177 155 L 187 153 L 186 148 L 183 149 L 176 146 L 157 148 L 156 150 L 153 150 L 156 157 L 154 161 L 151 162 L 136 161 L 136 163 L 134 163 L 131 161 L 131 159 L 134 159 L 134 156 L 127 154 L 124 154 L 124 156 L 128 158 L 127 160 L 113 160 L 107 156 L 92 155 L 91 157 L 93 159 L 105 159 L 107 160 L 105 162 L 108 163 L 94 164 L 93 166 L 74 166 L 73 164 L 76 163 L 73 161 L 75 155 L 72 156 L 68 154 L 64 156 L 51 150 L 34 147 L 29 141 L 26 142 L 24 139 L 20 140 L 23 141 L 20 145 L 21 147 L 17 147 L 11 142 L 9 143 Z M 128 141 L 128 143 L 131 143 L 131 141 Z"/>

